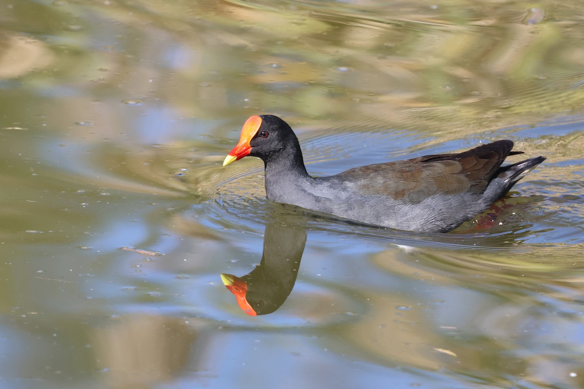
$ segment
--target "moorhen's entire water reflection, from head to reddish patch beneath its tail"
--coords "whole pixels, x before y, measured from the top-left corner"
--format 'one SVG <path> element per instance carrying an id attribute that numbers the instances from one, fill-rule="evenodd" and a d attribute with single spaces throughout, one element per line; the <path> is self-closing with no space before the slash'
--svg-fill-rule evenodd
<path id="1" fill-rule="evenodd" d="M 481 230 L 489 231 L 495 226 L 495 220 L 499 220 L 500 215 L 509 213 L 509 209 L 519 207 L 523 202 L 529 204 L 529 199 L 515 197 L 512 199 L 503 199 L 491 206 L 488 211 L 477 215 L 473 222 L 467 222 L 455 233 L 444 235 L 445 243 L 453 243 L 451 239 L 456 239 L 458 234 L 462 236 L 472 236 L 473 243 L 478 246 L 491 246 L 503 238 L 505 244 L 513 244 L 516 240 L 521 240 L 530 233 L 526 223 L 515 226 L 509 233 L 500 237 L 496 236 L 473 236 L 472 234 Z M 283 205 L 284 206 L 284 205 Z M 293 210 L 298 211 L 296 207 Z M 276 211 L 276 209 L 274 209 Z M 294 288 L 300 260 L 302 258 L 304 247 L 307 240 L 306 222 L 307 219 L 317 218 L 313 212 L 281 213 L 281 210 L 273 212 L 272 222 L 266 225 L 266 231 L 263 241 L 262 261 L 249 274 L 238 277 L 231 274 L 221 274 L 221 280 L 224 285 L 233 293 L 241 310 L 250 316 L 265 315 L 273 313 L 286 301 L 288 295 Z M 347 222 L 350 225 L 362 225 L 359 222 L 351 220 L 340 220 L 329 218 L 331 220 Z M 502 222 L 499 222 L 502 224 Z M 371 226 L 366 226 L 371 227 Z M 425 234 L 415 234 L 380 229 L 377 231 L 384 235 L 388 242 L 403 244 L 408 241 L 409 244 L 419 242 L 419 247 L 433 246 L 434 241 L 442 240 L 438 235 L 427 236 Z M 385 234 L 387 232 L 387 234 Z M 397 239 L 396 239 L 397 238 Z M 430 240 L 429 240 L 430 238 Z M 493 240 L 496 239 L 496 240 Z"/>

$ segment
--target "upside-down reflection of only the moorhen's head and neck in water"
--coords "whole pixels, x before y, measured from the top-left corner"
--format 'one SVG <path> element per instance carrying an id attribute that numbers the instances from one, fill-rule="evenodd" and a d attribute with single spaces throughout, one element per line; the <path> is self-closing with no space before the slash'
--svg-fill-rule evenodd
<path id="1" fill-rule="evenodd" d="M 305 244 L 303 226 L 269 223 L 260 264 L 241 277 L 221 274 L 221 280 L 246 314 L 272 313 L 286 301 L 296 282 Z"/>

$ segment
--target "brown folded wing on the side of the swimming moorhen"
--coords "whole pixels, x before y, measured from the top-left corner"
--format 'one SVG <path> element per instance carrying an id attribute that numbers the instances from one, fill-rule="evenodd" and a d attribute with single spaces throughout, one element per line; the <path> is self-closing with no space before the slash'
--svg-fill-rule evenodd
<path id="1" fill-rule="evenodd" d="M 356 167 L 336 177 L 363 195 L 389 195 L 417 204 L 437 193 L 483 192 L 512 148 L 512 141 L 496 141 L 458 154 Z"/>

